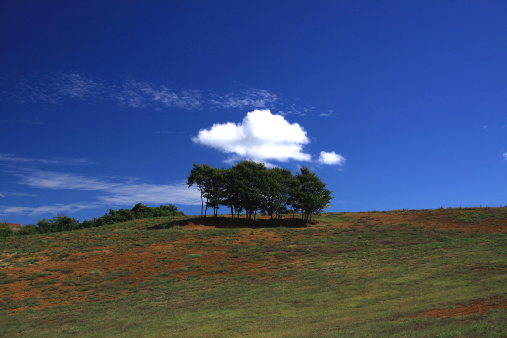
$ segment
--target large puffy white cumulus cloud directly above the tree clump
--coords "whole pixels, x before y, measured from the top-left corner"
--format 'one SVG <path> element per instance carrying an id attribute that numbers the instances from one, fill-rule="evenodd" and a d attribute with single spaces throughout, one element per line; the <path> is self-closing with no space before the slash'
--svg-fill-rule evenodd
<path id="1" fill-rule="evenodd" d="M 269 110 L 250 112 L 240 123 L 215 123 L 201 129 L 192 141 L 260 162 L 311 160 L 311 155 L 303 152 L 303 146 L 310 142 L 303 127 Z"/>

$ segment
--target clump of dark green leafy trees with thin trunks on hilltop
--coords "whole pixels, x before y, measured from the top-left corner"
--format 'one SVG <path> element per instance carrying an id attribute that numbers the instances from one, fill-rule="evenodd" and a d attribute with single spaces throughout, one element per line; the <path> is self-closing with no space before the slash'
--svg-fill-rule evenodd
<path id="1" fill-rule="evenodd" d="M 258 212 L 273 219 L 292 210 L 301 211 L 308 222 L 311 215 L 321 213 L 333 198 L 331 191 L 325 189 L 326 184 L 306 166 L 293 175 L 288 169 L 268 169 L 264 163 L 248 160 L 230 168 L 194 163 L 187 184 L 189 187 L 195 184 L 201 192 L 201 217 L 206 217 L 208 208 L 216 217 L 220 206 L 224 206 L 230 209 L 233 219 L 243 211 L 247 219 L 253 215 L 255 221 Z"/>

